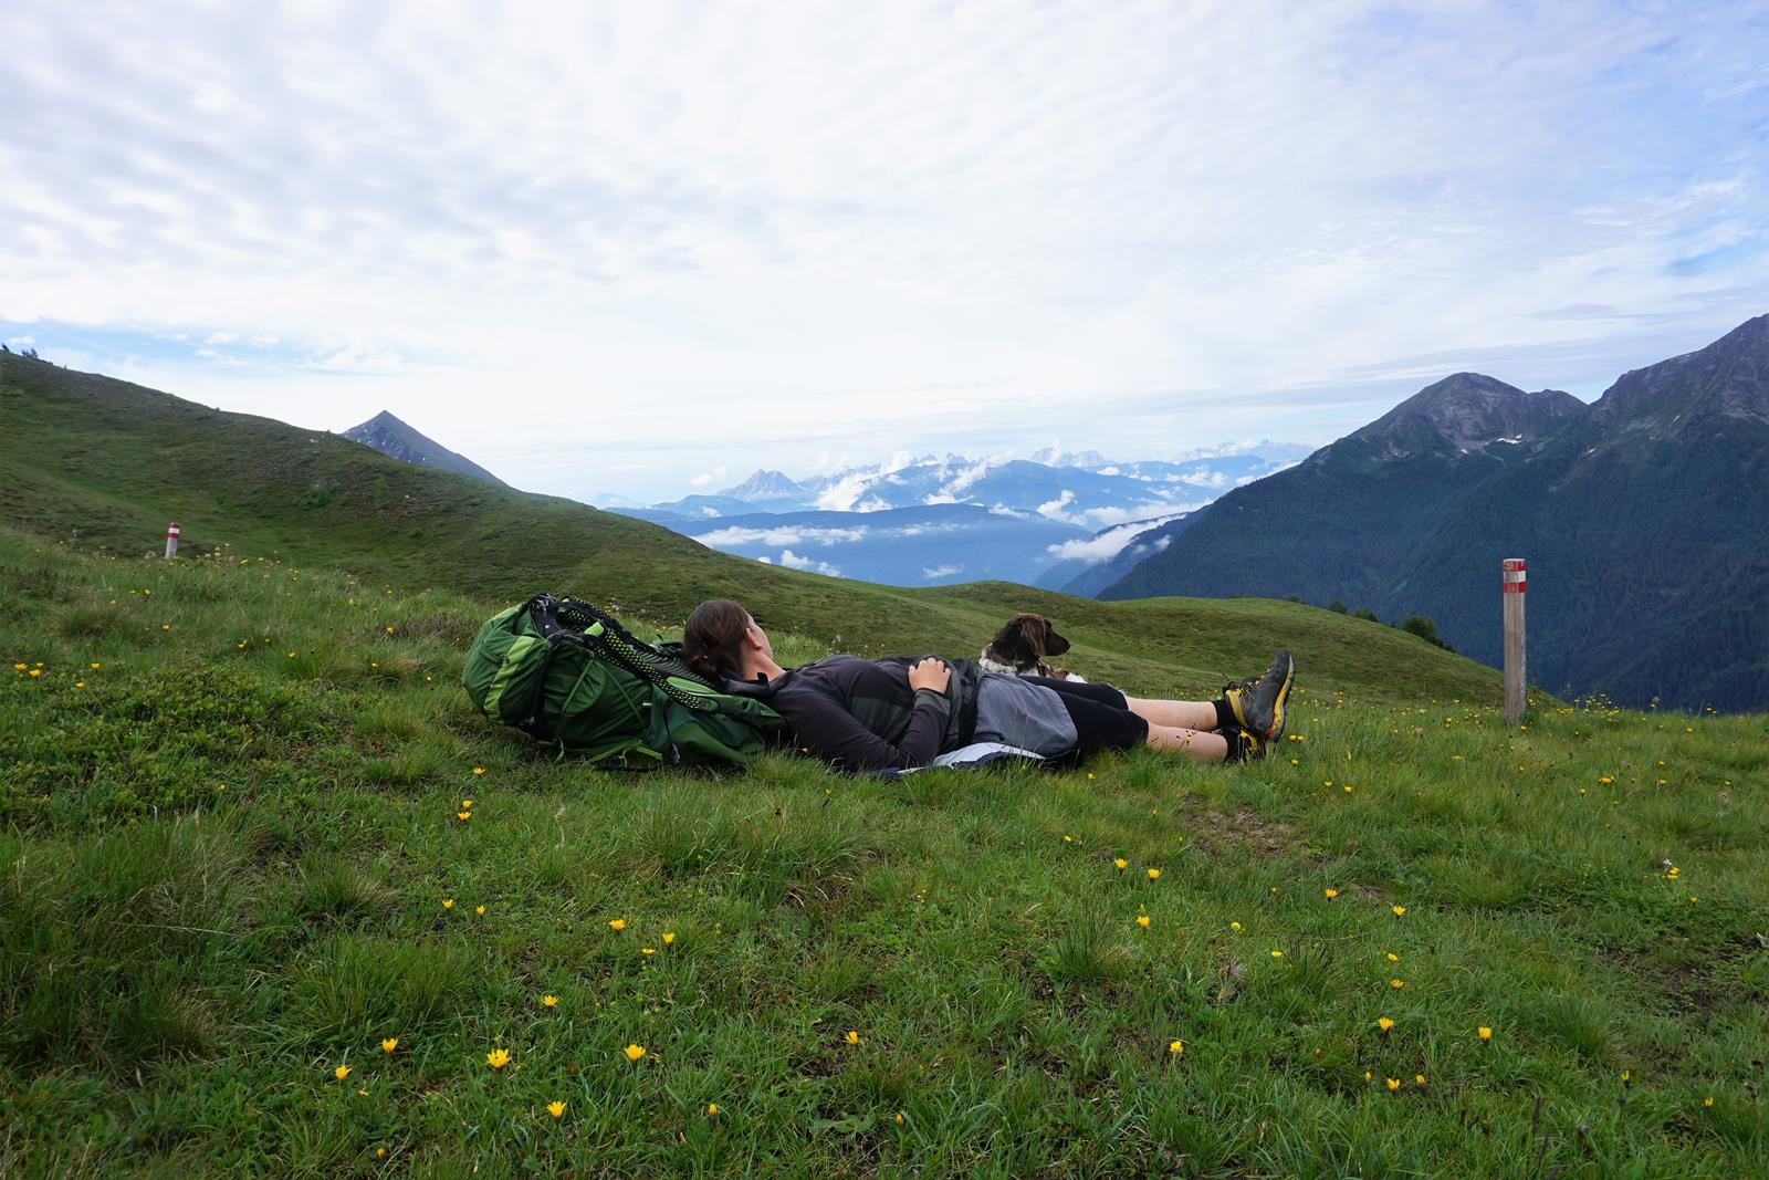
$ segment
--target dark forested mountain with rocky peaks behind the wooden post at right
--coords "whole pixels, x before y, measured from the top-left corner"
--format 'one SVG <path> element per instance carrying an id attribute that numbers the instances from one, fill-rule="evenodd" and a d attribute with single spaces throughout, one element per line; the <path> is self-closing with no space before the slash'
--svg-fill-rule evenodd
<path id="1" fill-rule="evenodd" d="M 1587 405 L 1456 373 L 1222 495 L 1102 598 L 1297 594 L 1422 614 L 1484 663 L 1528 561 L 1530 679 L 1769 706 L 1769 315 Z"/>

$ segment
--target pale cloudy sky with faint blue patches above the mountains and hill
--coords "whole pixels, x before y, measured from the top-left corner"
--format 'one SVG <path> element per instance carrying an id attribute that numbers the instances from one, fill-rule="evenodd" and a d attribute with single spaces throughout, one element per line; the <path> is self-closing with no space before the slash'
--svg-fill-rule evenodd
<path id="1" fill-rule="evenodd" d="M 0 34 L 0 336 L 391 409 L 580 499 L 1325 442 L 1769 311 L 1760 0 L 12 0 Z"/>

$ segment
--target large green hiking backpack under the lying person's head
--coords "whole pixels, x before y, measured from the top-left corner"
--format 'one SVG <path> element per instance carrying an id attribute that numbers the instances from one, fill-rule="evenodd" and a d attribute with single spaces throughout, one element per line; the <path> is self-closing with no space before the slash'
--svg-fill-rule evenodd
<path id="1" fill-rule="evenodd" d="M 679 644 L 640 642 L 600 610 L 552 594 L 492 616 L 460 683 L 492 720 L 593 761 L 743 764 L 785 729 L 761 701 L 695 676 Z"/>

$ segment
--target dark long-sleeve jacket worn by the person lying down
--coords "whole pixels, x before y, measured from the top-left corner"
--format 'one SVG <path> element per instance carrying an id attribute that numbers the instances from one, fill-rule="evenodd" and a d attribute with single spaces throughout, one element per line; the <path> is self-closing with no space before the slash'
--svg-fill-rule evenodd
<path id="1" fill-rule="evenodd" d="M 976 681 L 969 660 L 946 660 L 946 692 L 909 688 L 922 656 L 824 656 L 789 669 L 766 701 L 807 750 L 837 770 L 925 766 L 941 750 L 966 745 L 976 731 Z"/>

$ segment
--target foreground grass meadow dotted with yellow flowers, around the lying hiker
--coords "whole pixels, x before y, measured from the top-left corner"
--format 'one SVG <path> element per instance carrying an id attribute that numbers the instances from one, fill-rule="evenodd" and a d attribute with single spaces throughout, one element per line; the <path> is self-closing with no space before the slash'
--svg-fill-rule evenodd
<path id="1" fill-rule="evenodd" d="M 1100 609 L 1102 663 L 1159 667 L 1106 642 L 1139 619 L 1304 632 L 1283 755 L 640 777 L 472 715 L 492 601 L 76 550 L 0 531 L 0 1173 L 1739 1176 L 1769 1150 L 1762 716 L 1507 732 L 1396 702 L 1352 651 L 1387 628 L 1339 651 L 1325 612 L 1148 603 Z M 938 626 L 1007 594 L 854 593 Z M 789 662 L 831 642 L 780 632 Z M 1412 651 L 1406 681 L 1461 667 Z"/>

